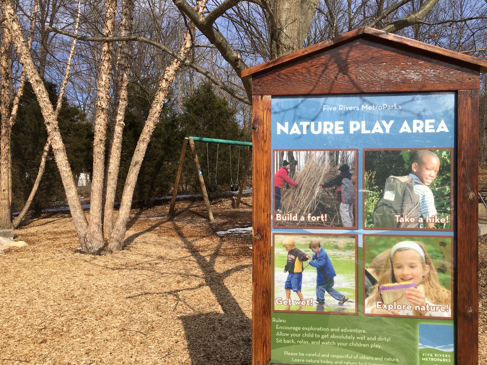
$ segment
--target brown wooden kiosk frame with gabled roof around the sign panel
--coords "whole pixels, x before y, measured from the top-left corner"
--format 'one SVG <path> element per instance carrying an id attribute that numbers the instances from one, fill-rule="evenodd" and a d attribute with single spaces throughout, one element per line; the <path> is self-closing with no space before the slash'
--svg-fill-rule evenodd
<path id="1" fill-rule="evenodd" d="M 367 27 L 242 72 L 243 77 L 252 77 L 253 86 L 253 365 L 271 361 L 273 211 L 270 195 L 274 171 L 271 147 L 274 97 L 380 93 L 400 96 L 428 92 L 450 92 L 456 100 L 453 103 L 455 145 L 452 146 L 455 152 L 451 155 L 452 197 L 455 194 L 451 237 L 456 247 L 451 258 L 454 262 L 451 287 L 454 363 L 478 364 L 479 73 L 485 72 L 484 59 Z M 358 171 L 360 175 L 361 165 Z M 361 214 L 360 209 L 357 214 Z M 359 221 L 358 229 L 362 227 Z M 358 273 L 362 271 L 358 263 Z M 360 314 L 362 307 L 359 308 Z M 317 320 L 319 315 L 322 314 L 315 315 Z"/>

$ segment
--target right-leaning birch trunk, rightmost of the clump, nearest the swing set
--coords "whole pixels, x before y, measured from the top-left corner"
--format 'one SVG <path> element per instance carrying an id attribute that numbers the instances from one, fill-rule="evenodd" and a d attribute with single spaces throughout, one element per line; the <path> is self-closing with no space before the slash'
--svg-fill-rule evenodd
<path id="1" fill-rule="evenodd" d="M 194 10 L 201 16 L 205 11 L 207 0 L 198 0 L 194 6 Z M 194 39 L 195 25 L 193 22 L 189 22 L 188 30 L 184 35 L 183 43 L 179 48 L 178 54 L 187 58 L 191 48 L 193 46 L 192 39 Z M 181 67 L 181 62 L 177 59 L 171 61 L 170 65 L 166 68 L 162 80 L 159 82 L 158 90 L 154 96 L 154 100 L 149 110 L 149 116 L 146 120 L 142 133 L 140 134 L 137 146 L 132 156 L 129 172 L 122 193 L 122 200 L 120 202 L 120 208 L 118 209 L 118 216 L 113 226 L 112 234 L 109 241 L 110 251 L 119 251 L 123 248 L 123 239 L 125 237 L 125 231 L 127 229 L 127 222 L 129 220 L 130 208 L 132 204 L 133 190 L 137 183 L 137 176 L 140 171 L 140 166 L 144 159 L 144 155 L 147 150 L 147 145 L 150 141 L 150 136 L 154 131 L 158 123 L 158 118 L 162 110 L 162 106 L 166 96 L 168 94 L 169 86 L 176 78 L 176 74 Z"/>

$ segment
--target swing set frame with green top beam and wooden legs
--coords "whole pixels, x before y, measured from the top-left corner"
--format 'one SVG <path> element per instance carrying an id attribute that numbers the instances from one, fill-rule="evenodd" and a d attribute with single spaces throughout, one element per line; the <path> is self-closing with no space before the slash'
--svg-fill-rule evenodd
<path id="1" fill-rule="evenodd" d="M 198 153 L 196 152 L 196 148 L 194 146 L 195 142 L 205 142 L 205 143 L 217 143 L 217 144 L 224 144 L 224 145 L 236 145 L 236 146 L 248 146 L 248 154 L 247 154 L 247 161 L 245 162 L 244 168 L 244 181 L 239 186 L 239 194 L 237 196 L 237 201 L 235 202 L 235 209 L 238 209 L 240 206 L 240 201 L 242 199 L 242 192 L 244 190 L 245 182 L 247 180 L 248 169 L 250 167 L 250 162 L 252 160 L 252 143 L 251 142 L 242 142 L 242 141 L 231 141 L 226 139 L 216 139 L 216 138 L 204 138 L 204 137 L 185 137 L 183 141 L 183 148 L 181 150 L 181 158 L 179 159 L 179 166 L 178 172 L 176 175 L 176 181 L 174 182 L 174 189 L 172 191 L 172 199 L 171 199 L 171 206 L 169 207 L 169 219 L 173 218 L 174 215 L 174 207 L 176 205 L 176 197 L 178 194 L 178 187 L 179 187 L 179 180 L 181 178 L 181 172 L 183 171 L 184 165 L 184 158 L 186 156 L 186 148 L 189 146 L 191 150 L 191 154 L 193 156 L 194 167 L 196 168 L 196 176 L 198 177 L 198 182 L 200 183 L 201 187 L 201 195 L 203 196 L 203 200 L 205 201 L 206 206 L 206 213 L 208 214 L 208 220 L 213 220 L 213 212 L 211 211 L 210 201 L 208 199 L 208 193 L 206 191 L 205 180 L 203 179 L 203 174 L 201 173 L 201 166 L 200 161 L 198 159 Z"/>

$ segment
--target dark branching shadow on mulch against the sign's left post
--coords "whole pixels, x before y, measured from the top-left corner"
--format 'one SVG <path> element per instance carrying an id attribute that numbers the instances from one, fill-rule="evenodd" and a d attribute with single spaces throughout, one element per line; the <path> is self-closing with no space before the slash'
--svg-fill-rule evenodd
<path id="1" fill-rule="evenodd" d="M 252 323 L 245 315 L 224 280 L 231 274 L 250 265 L 238 265 L 223 273 L 215 270 L 215 262 L 223 246 L 223 238 L 211 256 L 206 258 L 176 224 L 174 232 L 196 259 L 204 274 L 205 285 L 216 297 L 224 313 L 204 313 L 180 317 L 182 320 L 189 356 L 193 365 L 246 365 L 252 356 Z M 205 298 L 201 298 L 205 300 Z"/>

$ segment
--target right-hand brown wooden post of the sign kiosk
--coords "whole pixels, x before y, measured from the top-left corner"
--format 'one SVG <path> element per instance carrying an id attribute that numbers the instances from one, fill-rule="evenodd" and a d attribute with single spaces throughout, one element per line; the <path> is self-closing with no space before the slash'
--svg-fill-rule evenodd
<path id="1" fill-rule="evenodd" d="M 479 91 L 458 91 L 456 148 L 456 360 L 478 364 L 478 143 Z"/>

